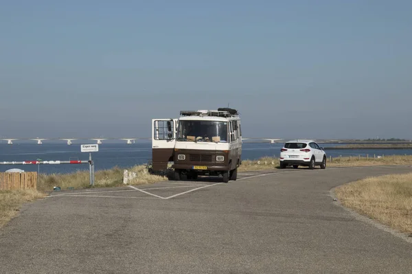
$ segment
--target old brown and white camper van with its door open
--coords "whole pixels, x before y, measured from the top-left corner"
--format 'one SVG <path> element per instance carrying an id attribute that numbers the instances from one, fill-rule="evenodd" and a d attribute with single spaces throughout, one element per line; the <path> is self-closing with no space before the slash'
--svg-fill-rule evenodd
<path id="1" fill-rule="evenodd" d="M 152 119 L 152 170 L 166 170 L 168 163 L 176 181 L 198 175 L 235 181 L 242 164 L 238 111 L 181 111 L 176 119 Z"/>

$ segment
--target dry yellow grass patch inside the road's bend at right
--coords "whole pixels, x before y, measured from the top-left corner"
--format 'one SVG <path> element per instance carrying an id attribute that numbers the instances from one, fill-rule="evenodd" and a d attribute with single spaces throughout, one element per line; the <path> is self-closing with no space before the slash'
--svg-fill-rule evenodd
<path id="1" fill-rule="evenodd" d="M 336 187 L 335 193 L 346 207 L 412 233 L 412 173 L 367 178 Z"/>

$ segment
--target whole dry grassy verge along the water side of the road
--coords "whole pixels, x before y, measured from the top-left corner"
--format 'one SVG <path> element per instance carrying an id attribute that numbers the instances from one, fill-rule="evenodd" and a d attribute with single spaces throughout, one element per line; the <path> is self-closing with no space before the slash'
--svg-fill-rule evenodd
<path id="1" fill-rule="evenodd" d="M 412 165 L 412 156 L 387 156 L 380 159 L 342 157 L 334 158 L 332 162 L 328 161 L 328 166 L 367 165 Z M 263 157 L 258 160 L 242 161 L 239 172 L 273 170 L 277 168 L 279 168 L 279 159 Z M 136 165 L 128 170 L 129 172 L 136 172 L 137 174 L 137 177 L 132 181 L 129 181 L 129 184 L 139 185 L 168 180 L 166 176 L 150 174 L 145 165 Z M 123 168 L 115 167 L 110 170 L 100 170 L 95 172 L 94 187 L 116 187 L 124 185 L 123 171 Z M 61 190 L 67 190 L 68 187 L 73 187 L 73 189 L 90 187 L 89 172 L 79 171 L 71 174 L 39 174 L 37 191 L 0 192 L 0 227 L 18 212 L 21 204 L 44 197 L 46 195 L 45 192 L 52 191 L 54 186 L 59 186 Z M 412 216 L 410 217 L 412 218 Z"/>

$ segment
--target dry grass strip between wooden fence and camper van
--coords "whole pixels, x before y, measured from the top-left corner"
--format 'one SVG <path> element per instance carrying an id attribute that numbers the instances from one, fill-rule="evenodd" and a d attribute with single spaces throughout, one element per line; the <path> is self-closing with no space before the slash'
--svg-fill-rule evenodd
<path id="1" fill-rule="evenodd" d="M 95 182 L 93 187 L 116 187 L 123 184 L 122 168 L 112 168 L 110 170 L 99 170 L 95 172 Z M 129 183 L 134 185 L 155 183 L 167 180 L 165 176 L 149 174 L 145 165 L 135 165 L 133 168 L 128 168 L 129 172 L 136 172 L 137 177 Z M 89 171 L 78 171 L 69 174 L 40 174 L 38 176 L 37 189 L 42 191 L 53 190 L 54 186 L 59 186 L 61 190 L 66 190 L 67 187 L 74 189 L 87 188 L 90 186 Z"/>

